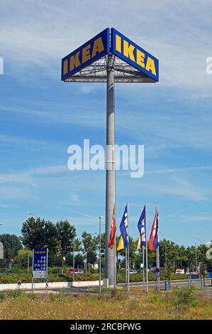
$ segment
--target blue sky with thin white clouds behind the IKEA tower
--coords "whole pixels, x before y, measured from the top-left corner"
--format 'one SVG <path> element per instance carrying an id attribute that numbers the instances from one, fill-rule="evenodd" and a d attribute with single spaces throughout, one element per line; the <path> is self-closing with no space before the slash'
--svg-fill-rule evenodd
<path id="1" fill-rule="evenodd" d="M 60 81 L 61 58 L 114 27 L 160 60 L 157 84 L 116 85 L 116 143 L 145 145 L 145 175 L 116 176 L 117 223 L 129 203 L 137 237 L 147 201 L 148 234 L 179 244 L 212 230 L 211 1 L 1 1 L 0 222 L 21 232 L 26 211 L 80 233 L 98 232 L 102 171 L 69 171 L 67 147 L 105 144 L 106 85 Z"/>

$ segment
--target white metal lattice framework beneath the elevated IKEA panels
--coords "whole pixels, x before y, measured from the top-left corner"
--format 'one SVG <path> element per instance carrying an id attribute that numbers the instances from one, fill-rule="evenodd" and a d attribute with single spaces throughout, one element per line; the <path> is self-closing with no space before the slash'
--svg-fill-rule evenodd
<path id="1" fill-rule="evenodd" d="M 136 70 L 116 55 L 112 55 L 112 57 L 114 82 L 155 82 L 151 77 Z M 87 68 L 70 76 L 65 82 L 106 82 L 107 68 L 108 55 L 105 55 L 103 58 L 87 66 Z"/>

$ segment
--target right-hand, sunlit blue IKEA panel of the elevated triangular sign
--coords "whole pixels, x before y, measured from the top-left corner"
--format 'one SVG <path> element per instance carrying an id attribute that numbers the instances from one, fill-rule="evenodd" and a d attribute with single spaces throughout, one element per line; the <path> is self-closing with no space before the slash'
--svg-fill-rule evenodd
<path id="1" fill-rule="evenodd" d="M 153 80 L 159 81 L 159 60 L 114 28 L 111 28 L 111 53 Z"/>

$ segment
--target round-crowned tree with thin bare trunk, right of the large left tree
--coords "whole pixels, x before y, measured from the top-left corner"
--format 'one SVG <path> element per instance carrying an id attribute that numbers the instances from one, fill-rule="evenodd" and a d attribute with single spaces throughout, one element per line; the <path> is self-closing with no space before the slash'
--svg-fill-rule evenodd
<path id="1" fill-rule="evenodd" d="M 67 220 L 57 222 L 57 237 L 59 242 L 59 252 L 62 256 L 62 273 L 63 273 L 63 257 L 66 256 L 73 249 L 73 241 L 76 237 L 76 229 L 70 225 Z M 74 247 L 75 248 L 75 247 Z"/>

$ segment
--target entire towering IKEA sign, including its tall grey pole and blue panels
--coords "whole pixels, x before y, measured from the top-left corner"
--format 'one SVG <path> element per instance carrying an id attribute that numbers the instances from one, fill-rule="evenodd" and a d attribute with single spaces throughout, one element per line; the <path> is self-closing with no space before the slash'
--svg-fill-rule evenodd
<path id="1" fill-rule="evenodd" d="M 114 82 L 157 82 L 159 61 L 114 28 L 106 28 L 62 58 L 64 82 L 106 82 L 106 249 L 105 271 L 116 285 L 116 252 L 108 249 L 115 191 Z"/>

